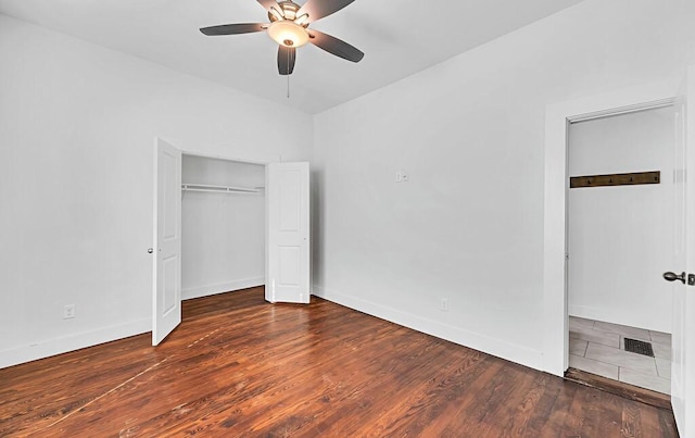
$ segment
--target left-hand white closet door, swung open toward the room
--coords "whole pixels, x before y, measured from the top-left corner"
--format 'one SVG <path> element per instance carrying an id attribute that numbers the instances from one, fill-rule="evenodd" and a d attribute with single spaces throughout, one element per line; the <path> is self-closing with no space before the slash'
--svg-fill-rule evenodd
<path id="1" fill-rule="evenodd" d="M 156 140 L 152 345 L 181 323 L 181 151 Z"/>

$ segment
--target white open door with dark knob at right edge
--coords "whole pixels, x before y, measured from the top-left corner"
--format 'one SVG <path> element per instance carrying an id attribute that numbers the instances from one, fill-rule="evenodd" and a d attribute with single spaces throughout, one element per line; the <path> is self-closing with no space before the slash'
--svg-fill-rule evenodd
<path id="1" fill-rule="evenodd" d="M 695 436 L 695 70 L 688 68 L 677 102 L 671 404 L 681 437 Z M 680 276 L 682 274 L 682 277 Z M 671 274 L 671 273 L 668 273 Z"/>

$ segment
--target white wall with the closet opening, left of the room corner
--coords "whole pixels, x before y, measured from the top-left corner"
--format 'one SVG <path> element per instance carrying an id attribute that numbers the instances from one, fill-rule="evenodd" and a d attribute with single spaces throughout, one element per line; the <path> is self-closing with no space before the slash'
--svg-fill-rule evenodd
<path id="1" fill-rule="evenodd" d="M 309 157 L 306 114 L 3 15 L 0 60 L 0 366 L 150 330 L 156 136 Z"/>

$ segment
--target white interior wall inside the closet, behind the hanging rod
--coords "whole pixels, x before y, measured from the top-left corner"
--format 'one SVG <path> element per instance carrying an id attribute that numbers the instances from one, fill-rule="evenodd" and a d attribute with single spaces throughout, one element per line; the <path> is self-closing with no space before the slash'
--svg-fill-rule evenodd
<path id="1" fill-rule="evenodd" d="M 265 166 L 184 155 L 184 184 L 263 187 Z M 265 284 L 265 196 L 185 191 L 181 298 Z"/>

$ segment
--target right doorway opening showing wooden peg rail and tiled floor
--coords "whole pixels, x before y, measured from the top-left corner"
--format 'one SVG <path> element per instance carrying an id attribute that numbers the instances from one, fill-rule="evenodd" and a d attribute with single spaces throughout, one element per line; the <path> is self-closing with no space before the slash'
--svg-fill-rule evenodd
<path id="1" fill-rule="evenodd" d="M 670 392 L 673 114 L 661 105 L 569 126 L 570 368 Z"/>

